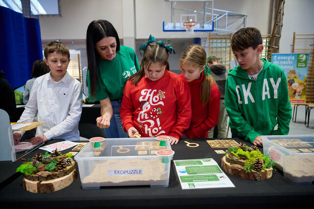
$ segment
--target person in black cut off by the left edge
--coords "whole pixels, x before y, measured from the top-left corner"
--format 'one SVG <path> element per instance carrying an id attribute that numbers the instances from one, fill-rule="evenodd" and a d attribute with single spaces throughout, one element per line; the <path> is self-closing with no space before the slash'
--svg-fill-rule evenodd
<path id="1" fill-rule="evenodd" d="M 10 122 L 15 121 L 15 95 L 11 84 L 6 80 L 3 70 L 0 70 L 0 109 L 7 112 L 10 117 Z"/>

